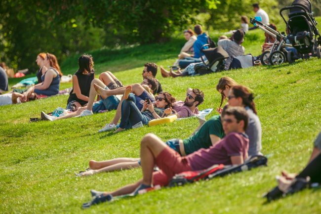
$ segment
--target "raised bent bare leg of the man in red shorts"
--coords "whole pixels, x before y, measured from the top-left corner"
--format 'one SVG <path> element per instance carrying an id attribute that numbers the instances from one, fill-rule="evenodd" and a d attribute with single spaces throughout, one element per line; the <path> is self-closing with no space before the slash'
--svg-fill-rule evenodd
<path id="1" fill-rule="evenodd" d="M 166 144 L 155 134 L 146 134 L 143 137 L 140 142 L 140 160 L 143 171 L 142 184 L 152 184 L 155 159 L 165 147 Z"/>

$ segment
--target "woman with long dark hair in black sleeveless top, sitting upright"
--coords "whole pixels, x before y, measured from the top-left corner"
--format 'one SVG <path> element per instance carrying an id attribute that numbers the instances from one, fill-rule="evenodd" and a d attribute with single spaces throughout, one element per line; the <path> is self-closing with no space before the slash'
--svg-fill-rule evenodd
<path id="1" fill-rule="evenodd" d="M 78 59 L 79 69 L 73 75 L 73 89 L 67 101 L 67 108 L 75 111 L 79 107 L 87 104 L 89 100 L 90 84 L 95 79 L 95 71 L 93 69 L 94 61 L 91 55 L 81 55 Z"/>

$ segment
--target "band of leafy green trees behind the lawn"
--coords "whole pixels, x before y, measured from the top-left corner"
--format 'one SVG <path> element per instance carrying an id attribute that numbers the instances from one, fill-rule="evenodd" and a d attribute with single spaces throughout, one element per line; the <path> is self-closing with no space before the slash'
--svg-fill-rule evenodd
<path id="1" fill-rule="evenodd" d="M 271 22 L 292 0 L 2 0 L 0 60 L 13 68 L 36 69 L 40 52 L 62 61 L 69 54 L 120 44 L 165 42 L 185 28 L 240 27 L 240 16 L 253 16 L 260 3 Z M 321 14 L 321 0 L 313 0 Z"/>

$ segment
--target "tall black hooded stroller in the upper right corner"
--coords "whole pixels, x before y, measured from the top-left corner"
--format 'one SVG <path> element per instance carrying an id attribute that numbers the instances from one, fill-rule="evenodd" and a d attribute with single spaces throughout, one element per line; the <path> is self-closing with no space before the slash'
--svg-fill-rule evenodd
<path id="1" fill-rule="evenodd" d="M 299 58 L 307 59 L 310 56 L 321 58 L 321 38 L 311 7 L 310 0 L 295 0 L 292 6 L 280 10 L 280 15 L 286 24 L 286 38 L 298 52 L 297 56 L 294 56 L 292 51 L 288 51 L 289 63 Z M 289 10 L 287 21 L 282 14 L 284 10 Z"/>

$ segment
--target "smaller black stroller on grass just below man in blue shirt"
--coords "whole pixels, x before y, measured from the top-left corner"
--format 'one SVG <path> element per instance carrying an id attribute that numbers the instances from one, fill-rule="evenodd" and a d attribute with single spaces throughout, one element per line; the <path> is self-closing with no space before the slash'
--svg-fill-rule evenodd
<path id="1" fill-rule="evenodd" d="M 229 54 L 221 46 L 204 49 L 206 46 L 209 46 L 209 44 L 204 44 L 201 47 L 200 56 L 202 63 L 195 65 L 195 72 L 203 75 L 223 71 L 225 68 L 225 59 L 229 58 Z M 207 60 L 204 60 L 204 56 Z"/>

